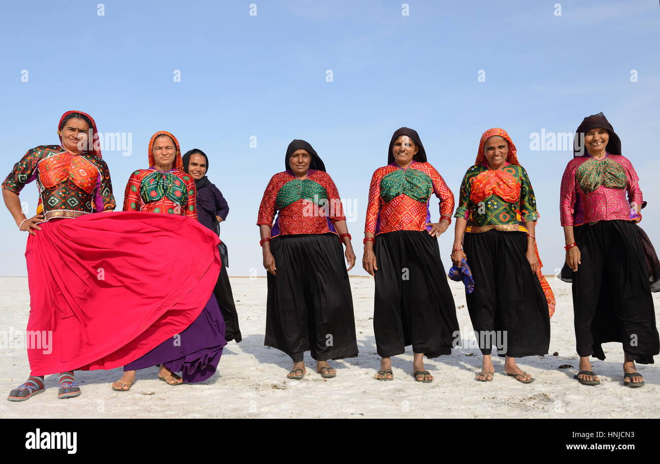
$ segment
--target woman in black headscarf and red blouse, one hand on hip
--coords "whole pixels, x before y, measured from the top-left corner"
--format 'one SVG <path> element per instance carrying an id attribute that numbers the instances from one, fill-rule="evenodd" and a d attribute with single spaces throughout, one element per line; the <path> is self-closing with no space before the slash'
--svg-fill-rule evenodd
<path id="1" fill-rule="evenodd" d="M 440 198 L 440 221 L 430 221 L 431 195 Z M 426 162 L 419 135 L 400 128 L 389 142 L 387 166 L 376 169 L 369 189 L 362 266 L 374 276 L 374 333 L 381 356 L 377 380 L 392 380 L 391 356 L 413 345 L 413 376 L 429 383 L 424 354 L 451 354 L 458 330 L 437 237 L 451 223 L 454 198 Z"/>

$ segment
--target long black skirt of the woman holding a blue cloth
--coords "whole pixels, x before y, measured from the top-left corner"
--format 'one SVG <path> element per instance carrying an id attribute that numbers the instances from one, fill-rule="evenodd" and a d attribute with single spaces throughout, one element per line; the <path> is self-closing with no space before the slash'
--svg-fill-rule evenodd
<path id="1" fill-rule="evenodd" d="M 532 272 L 527 237 L 491 229 L 466 233 L 463 249 L 475 279 L 467 309 L 482 354 L 521 358 L 547 354 L 550 315 L 541 282 Z"/>

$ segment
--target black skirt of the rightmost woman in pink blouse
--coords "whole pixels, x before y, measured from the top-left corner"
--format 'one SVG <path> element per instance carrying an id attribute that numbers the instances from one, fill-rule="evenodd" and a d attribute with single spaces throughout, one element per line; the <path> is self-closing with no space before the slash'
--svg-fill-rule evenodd
<path id="1" fill-rule="evenodd" d="M 605 359 L 601 344 L 620 342 L 629 361 L 653 364 L 660 352 L 644 247 L 630 221 L 574 228 L 581 264 L 573 273 L 579 356 Z"/>

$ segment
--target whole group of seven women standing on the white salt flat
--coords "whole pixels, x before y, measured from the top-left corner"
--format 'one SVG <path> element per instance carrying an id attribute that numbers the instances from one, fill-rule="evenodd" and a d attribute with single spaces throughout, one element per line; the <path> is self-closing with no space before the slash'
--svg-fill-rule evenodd
<path id="1" fill-rule="evenodd" d="M 2 184 L 16 225 L 30 233 L 27 329 L 53 334 L 49 354 L 28 346 L 30 377 L 8 399 L 42 393 L 44 375 L 51 373 L 60 373 L 59 398 L 80 395 L 77 369 L 123 366 L 112 385 L 116 391 L 128 391 L 135 371 L 150 366 L 160 367 L 158 377 L 168 385 L 211 377 L 226 342 L 240 342 L 241 334 L 226 247 L 218 239 L 228 206 L 206 176 L 209 158 L 199 149 L 182 157 L 174 135 L 156 132 L 149 166 L 127 182 L 123 213 L 96 214 L 116 207 L 96 124 L 88 114 L 70 111 L 58 134 L 60 145 L 28 151 Z M 660 352 L 651 298 L 660 264 L 636 225 L 642 192 L 602 113 L 585 118 L 576 137 L 584 150 L 568 163 L 561 190 L 568 266 L 562 276 L 573 282 L 576 379 L 597 385 L 589 356 L 605 359 L 601 344 L 618 341 L 624 384 L 639 387 L 644 379 L 634 363 L 652 364 Z M 18 194 L 32 180 L 39 207 L 27 218 Z M 432 195 L 440 200 L 436 223 Z M 306 374 L 306 351 L 325 378 L 337 375 L 329 360 L 358 356 L 348 282 L 356 256 L 339 198 L 321 157 L 296 139 L 259 206 L 268 272 L 265 345 L 292 358 L 290 379 Z M 515 358 L 548 352 L 555 301 L 541 273 L 533 188 L 506 131 L 484 132 L 454 207 L 419 135 L 397 130 L 387 165 L 372 176 L 364 228 L 362 266 L 374 276 L 381 356 L 374 378 L 391 381 L 391 356 L 412 345 L 414 379 L 432 382 L 424 355 L 451 354 L 455 346 L 456 309 L 437 241 L 454 217 L 450 275 L 466 284 L 483 354 L 477 380 L 493 380 L 496 344 L 504 372 L 530 383 L 534 379 Z"/>

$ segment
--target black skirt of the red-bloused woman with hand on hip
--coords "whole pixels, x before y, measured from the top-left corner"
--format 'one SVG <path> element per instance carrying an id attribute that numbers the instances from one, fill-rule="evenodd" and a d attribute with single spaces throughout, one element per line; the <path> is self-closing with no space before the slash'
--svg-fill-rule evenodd
<path id="1" fill-rule="evenodd" d="M 426 231 L 376 236 L 374 334 L 383 358 L 413 352 L 451 354 L 458 321 L 438 239 Z"/>

